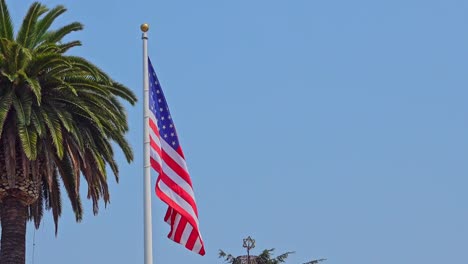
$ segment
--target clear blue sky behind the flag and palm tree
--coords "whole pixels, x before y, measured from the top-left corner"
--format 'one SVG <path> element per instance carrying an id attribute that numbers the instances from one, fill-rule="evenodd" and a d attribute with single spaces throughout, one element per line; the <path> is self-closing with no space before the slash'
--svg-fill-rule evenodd
<path id="1" fill-rule="evenodd" d="M 7 2 L 18 24 L 32 1 Z M 43 3 L 65 4 L 58 24 L 86 26 L 74 53 L 140 98 L 151 25 L 207 250 L 166 238 L 154 195 L 155 263 L 222 263 L 218 249 L 244 254 L 248 235 L 296 251 L 292 264 L 468 263 L 467 1 Z M 35 264 L 142 263 L 141 101 L 111 204 L 94 217 L 87 202 L 76 224 L 64 199 L 58 237 L 49 215 L 36 232 Z"/>

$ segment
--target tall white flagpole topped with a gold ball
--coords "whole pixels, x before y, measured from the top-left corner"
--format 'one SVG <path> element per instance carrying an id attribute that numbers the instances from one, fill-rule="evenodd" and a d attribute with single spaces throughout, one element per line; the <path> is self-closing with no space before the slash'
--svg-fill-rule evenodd
<path id="1" fill-rule="evenodd" d="M 145 262 L 153 264 L 153 227 L 151 222 L 151 165 L 150 165 L 150 142 L 149 142 L 149 78 L 148 78 L 148 24 L 141 25 L 143 39 L 143 160 L 144 160 L 144 180 L 143 180 L 143 206 L 144 206 L 144 243 Z"/>

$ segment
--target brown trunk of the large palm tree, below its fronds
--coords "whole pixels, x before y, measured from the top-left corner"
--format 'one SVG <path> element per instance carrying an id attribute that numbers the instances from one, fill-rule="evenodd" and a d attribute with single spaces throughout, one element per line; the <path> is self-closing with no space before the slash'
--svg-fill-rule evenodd
<path id="1" fill-rule="evenodd" d="M 27 207 L 15 197 L 6 197 L 0 208 L 2 240 L 0 263 L 24 264 Z"/>

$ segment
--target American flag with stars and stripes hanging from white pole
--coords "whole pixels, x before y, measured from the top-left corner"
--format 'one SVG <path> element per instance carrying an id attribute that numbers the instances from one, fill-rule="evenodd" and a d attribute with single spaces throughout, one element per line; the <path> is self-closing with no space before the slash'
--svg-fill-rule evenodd
<path id="1" fill-rule="evenodd" d="M 192 181 L 169 107 L 149 58 L 148 75 L 150 160 L 151 167 L 159 173 L 156 195 L 168 205 L 164 217 L 171 226 L 168 237 L 191 251 L 205 255 Z"/>

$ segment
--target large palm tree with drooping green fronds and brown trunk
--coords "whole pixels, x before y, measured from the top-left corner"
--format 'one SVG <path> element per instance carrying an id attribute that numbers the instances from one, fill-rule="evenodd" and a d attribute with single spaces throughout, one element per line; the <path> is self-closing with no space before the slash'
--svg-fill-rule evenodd
<path id="1" fill-rule="evenodd" d="M 5 0 L 0 0 L 0 263 L 25 262 L 26 222 L 39 228 L 44 209 L 57 234 L 62 184 L 76 221 L 82 219 L 81 177 L 87 198 L 109 202 L 106 167 L 118 181 L 113 143 L 128 162 L 127 117 L 119 98 L 136 97 L 89 61 L 66 55 L 81 30 L 71 23 L 51 30 L 66 9 L 33 3 L 15 34 Z M 61 183 L 60 183 L 61 182 Z"/>

